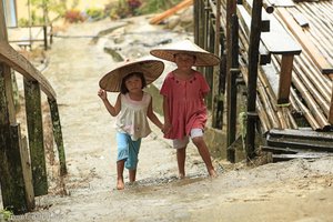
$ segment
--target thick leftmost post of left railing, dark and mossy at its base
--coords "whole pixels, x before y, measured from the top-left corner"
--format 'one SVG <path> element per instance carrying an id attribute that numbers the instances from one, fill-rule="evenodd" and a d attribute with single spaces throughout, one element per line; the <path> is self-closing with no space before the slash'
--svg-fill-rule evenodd
<path id="1" fill-rule="evenodd" d="M 0 0 L 0 41 L 7 42 L 3 1 Z M 12 127 L 13 125 L 13 127 Z M 0 63 L 0 183 L 3 208 L 16 214 L 28 210 L 20 158 L 20 131 L 16 124 L 10 68 Z"/>

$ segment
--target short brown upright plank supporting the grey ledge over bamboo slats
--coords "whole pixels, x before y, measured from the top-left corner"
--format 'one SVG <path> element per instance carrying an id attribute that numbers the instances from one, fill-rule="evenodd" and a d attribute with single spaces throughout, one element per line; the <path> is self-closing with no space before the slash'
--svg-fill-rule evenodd
<path id="1" fill-rule="evenodd" d="M 290 87 L 292 81 L 293 54 L 283 54 L 278 90 L 278 104 L 289 103 Z"/>

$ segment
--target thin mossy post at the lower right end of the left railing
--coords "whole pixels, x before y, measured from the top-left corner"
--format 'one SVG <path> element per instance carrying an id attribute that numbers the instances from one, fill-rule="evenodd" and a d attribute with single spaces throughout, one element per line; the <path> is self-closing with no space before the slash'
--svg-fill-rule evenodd
<path id="1" fill-rule="evenodd" d="M 58 104 L 57 104 L 56 100 L 52 100 L 50 98 L 48 98 L 48 101 L 49 101 L 50 111 L 51 111 L 54 141 L 57 143 L 58 153 L 59 153 L 60 175 L 65 175 L 67 174 L 65 154 L 64 154 L 64 148 L 63 148 L 63 140 L 62 140 Z"/>

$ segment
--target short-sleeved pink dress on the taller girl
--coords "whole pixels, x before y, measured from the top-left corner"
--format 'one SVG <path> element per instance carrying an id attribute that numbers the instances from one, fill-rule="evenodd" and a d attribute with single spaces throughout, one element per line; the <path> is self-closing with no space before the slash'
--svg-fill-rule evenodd
<path id="1" fill-rule="evenodd" d="M 170 72 L 160 93 L 168 99 L 172 130 L 164 134 L 167 139 L 183 139 L 191 129 L 204 129 L 208 115 L 204 95 L 210 91 L 204 77 L 194 71 L 192 78 L 179 80 Z"/>

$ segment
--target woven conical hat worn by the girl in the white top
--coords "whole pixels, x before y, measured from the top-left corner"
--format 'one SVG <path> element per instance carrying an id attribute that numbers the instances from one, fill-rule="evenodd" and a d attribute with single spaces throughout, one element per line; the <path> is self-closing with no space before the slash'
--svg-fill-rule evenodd
<path id="1" fill-rule="evenodd" d="M 108 72 L 100 80 L 100 88 L 109 92 L 119 92 L 122 79 L 131 72 L 142 72 L 147 84 L 157 80 L 164 70 L 164 63 L 157 59 L 138 59 L 125 61 Z"/>

